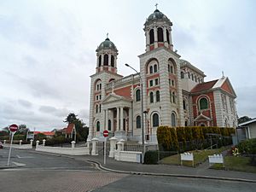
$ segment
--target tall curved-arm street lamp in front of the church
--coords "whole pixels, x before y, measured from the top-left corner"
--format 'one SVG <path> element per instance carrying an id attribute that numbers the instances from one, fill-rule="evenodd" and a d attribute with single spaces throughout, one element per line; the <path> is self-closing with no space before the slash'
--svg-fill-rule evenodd
<path id="1" fill-rule="evenodd" d="M 127 63 L 125 63 L 126 67 L 130 67 L 133 71 L 135 71 L 138 76 L 140 77 L 140 83 L 141 83 L 141 102 L 142 102 L 142 115 L 141 115 L 141 124 L 142 124 L 142 144 L 143 144 L 143 157 L 142 157 L 142 163 L 144 163 L 144 154 L 145 154 L 145 136 L 144 136 L 144 118 L 143 118 L 143 79 L 140 73 L 137 72 L 137 70 Z"/>

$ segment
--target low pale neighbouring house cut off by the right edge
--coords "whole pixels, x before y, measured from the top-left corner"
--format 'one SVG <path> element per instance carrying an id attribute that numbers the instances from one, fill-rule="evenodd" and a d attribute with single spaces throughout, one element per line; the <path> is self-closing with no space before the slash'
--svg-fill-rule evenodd
<path id="1" fill-rule="evenodd" d="M 256 118 L 241 123 L 236 127 L 238 142 L 256 137 Z"/>

